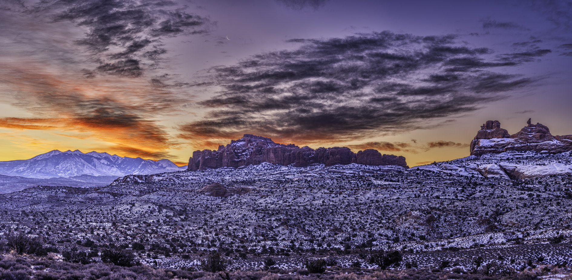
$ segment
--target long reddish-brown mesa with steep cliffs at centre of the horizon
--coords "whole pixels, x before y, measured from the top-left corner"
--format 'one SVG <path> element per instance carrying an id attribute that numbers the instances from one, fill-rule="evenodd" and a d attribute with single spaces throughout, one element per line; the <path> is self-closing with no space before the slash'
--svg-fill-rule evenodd
<path id="1" fill-rule="evenodd" d="M 252 134 L 244 134 L 239 140 L 233 140 L 227 146 L 219 146 L 218 150 L 194 151 L 189 158 L 189 170 L 215 169 L 220 167 L 240 167 L 258 165 L 262 162 L 296 167 L 308 166 L 313 163 L 324 163 L 325 166 L 348 165 L 359 163 L 363 165 L 399 165 L 407 167 L 402 156 L 382 155 L 377 150 L 359 151 L 353 153 L 348 147 L 298 147 L 293 144 L 284 145 L 270 138 Z M 407 167 L 408 168 L 408 167 Z"/>

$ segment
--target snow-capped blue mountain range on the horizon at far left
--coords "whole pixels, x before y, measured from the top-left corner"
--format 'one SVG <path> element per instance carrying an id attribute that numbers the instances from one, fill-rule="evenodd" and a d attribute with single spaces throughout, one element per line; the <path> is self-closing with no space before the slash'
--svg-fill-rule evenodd
<path id="1" fill-rule="evenodd" d="M 185 169 L 169 159 L 120 157 L 108 153 L 80 150 L 53 150 L 30 159 L 0 162 L 0 174 L 27 178 L 57 178 L 91 176 L 125 176 L 128 174 L 154 174 Z"/>

